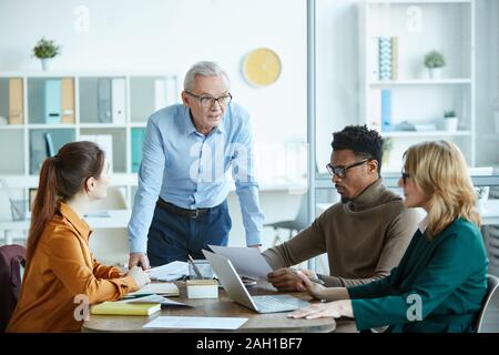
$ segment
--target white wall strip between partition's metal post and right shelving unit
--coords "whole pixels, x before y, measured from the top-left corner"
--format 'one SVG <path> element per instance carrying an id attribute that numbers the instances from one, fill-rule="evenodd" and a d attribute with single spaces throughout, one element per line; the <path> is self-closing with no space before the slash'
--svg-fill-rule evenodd
<path id="1" fill-rule="evenodd" d="M 317 165 L 325 172 L 333 132 L 358 119 L 358 0 L 317 1 Z"/>

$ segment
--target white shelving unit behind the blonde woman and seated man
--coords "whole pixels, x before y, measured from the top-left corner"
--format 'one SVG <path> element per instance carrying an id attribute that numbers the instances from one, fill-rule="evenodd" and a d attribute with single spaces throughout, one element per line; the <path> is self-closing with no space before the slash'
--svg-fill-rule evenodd
<path id="1" fill-rule="evenodd" d="M 385 172 L 399 172 L 401 155 L 411 144 L 446 139 L 457 143 L 470 166 L 476 162 L 475 1 L 365 0 L 359 7 L 360 121 L 391 138 L 394 150 Z M 396 37 L 398 75 L 379 80 L 373 38 Z M 424 57 L 438 50 L 446 58 L 441 79 L 429 79 Z M 380 90 L 391 92 L 391 129 L 381 131 L 377 102 Z M 456 111 L 457 131 L 445 131 L 444 112 Z M 373 114 L 376 112 L 376 114 Z M 397 124 L 432 124 L 435 130 L 401 131 Z"/>

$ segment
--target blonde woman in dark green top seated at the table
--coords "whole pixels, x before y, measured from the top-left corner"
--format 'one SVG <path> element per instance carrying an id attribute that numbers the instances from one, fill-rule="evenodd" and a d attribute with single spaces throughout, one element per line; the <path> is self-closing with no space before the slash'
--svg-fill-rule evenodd
<path id="1" fill-rule="evenodd" d="M 346 288 L 327 288 L 301 275 L 313 296 L 335 302 L 291 317 L 353 317 L 359 331 L 475 331 L 488 260 L 465 159 L 446 141 L 413 145 L 404 158 L 399 186 L 405 204 L 422 207 L 427 216 L 398 267 L 381 281 Z"/>

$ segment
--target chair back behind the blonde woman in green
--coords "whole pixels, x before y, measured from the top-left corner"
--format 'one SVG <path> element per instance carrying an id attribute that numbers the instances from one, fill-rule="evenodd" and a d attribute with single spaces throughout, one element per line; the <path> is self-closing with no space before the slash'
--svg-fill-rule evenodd
<path id="1" fill-rule="evenodd" d="M 477 333 L 499 333 L 499 278 L 487 275 L 487 296 L 478 316 Z"/>

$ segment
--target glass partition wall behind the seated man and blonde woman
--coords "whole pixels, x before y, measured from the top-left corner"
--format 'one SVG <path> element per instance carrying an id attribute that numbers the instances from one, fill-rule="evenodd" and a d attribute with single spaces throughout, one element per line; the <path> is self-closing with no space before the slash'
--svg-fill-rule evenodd
<path id="1" fill-rule="evenodd" d="M 455 142 L 499 251 L 498 23 L 493 0 L 308 0 L 310 221 L 339 201 L 325 168 L 333 132 L 366 124 L 388 142 L 381 176 L 396 191 L 408 146 Z M 329 271 L 326 257 L 309 266 Z"/>

